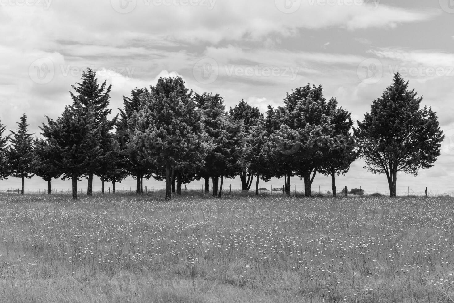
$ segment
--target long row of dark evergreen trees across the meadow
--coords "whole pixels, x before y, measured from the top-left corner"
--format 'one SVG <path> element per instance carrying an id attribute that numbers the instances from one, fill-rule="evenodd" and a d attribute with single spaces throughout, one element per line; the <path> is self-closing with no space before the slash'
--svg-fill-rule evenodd
<path id="1" fill-rule="evenodd" d="M 93 70 L 72 86 L 72 103 L 56 120 L 46 116 L 42 139 L 28 133 L 25 114 L 16 131 L 5 134 L 0 122 L 0 179 L 24 180 L 37 175 L 48 182 L 93 176 L 115 184 L 128 176 L 143 193 L 143 179 L 166 181 L 166 199 L 181 194 L 182 184 L 203 179 L 208 192 L 222 195 L 224 178 L 239 176 L 243 190 L 255 180 L 283 178 L 290 195 L 290 178 L 304 180 L 311 195 L 316 174 L 332 178 L 345 174 L 361 157 L 365 168 L 386 174 L 390 195 L 395 196 L 396 175 L 417 174 L 429 168 L 440 154 L 443 134 L 436 114 L 420 108 L 422 97 L 408 89 L 396 74 L 381 98 L 375 99 L 363 121 L 353 128 L 351 113 L 335 98 L 323 96 L 322 87 L 307 84 L 287 93 L 282 106 L 268 106 L 265 114 L 244 100 L 226 111 L 219 94 L 197 94 L 180 77 L 160 78 L 155 86 L 133 89 L 123 96 L 123 109 L 109 119 L 111 86 L 99 84 Z"/>

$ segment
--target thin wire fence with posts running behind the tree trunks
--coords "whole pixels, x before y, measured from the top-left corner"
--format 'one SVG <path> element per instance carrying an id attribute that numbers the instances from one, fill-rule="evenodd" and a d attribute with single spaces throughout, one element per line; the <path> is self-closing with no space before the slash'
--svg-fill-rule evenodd
<path id="1" fill-rule="evenodd" d="M 390 189 L 388 186 L 346 186 L 347 193 L 351 194 L 351 189 L 360 189 L 362 194 L 370 195 L 370 194 L 382 194 L 382 195 L 389 195 Z M 165 184 L 154 184 L 154 185 L 144 185 L 143 186 L 143 193 L 154 193 L 165 189 Z M 255 183 L 252 184 L 249 193 L 255 192 Z M 205 192 L 205 185 L 204 184 L 191 184 L 191 185 L 182 185 L 182 191 L 200 191 L 201 193 Z M 312 195 L 331 195 L 331 185 L 327 184 L 312 184 L 311 186 L 311 194 Z M 408 196 L 425 196 L 427 190 L 427 196 L 429 197 L 438 197 L 438 196 L 454 196 L 454 186 L 452 188 L 449 187 L 422 187 L 422 186 L 398 186 L 396 188 L 396 196 L 401 197 L 408 197 Z M 223 194 L 228 194 L 229 192 L 242 192 L 241 184 L 223 184 L 222 192 Z M 269 195 L 278 195 L 282 194 L 282 185 L 279 184 L 259 184 L 259 191 L 260 194 L 269 194 Z M 87 188 L 79 188 L 77 190 L 78 194 L 85 194 L 87 192 Z M 116 193 L 136 193 L 135 187 L 123 187 L 117 186 L 115 188 Z M 210 184 L 209 192 L 212 193 L 212 184 Z M 345 193 L 345 186 L 337 186 L 336 192 L 338 195 L 343 195 Z M 21 189 L 16 188 L 6 188 L 0 189 L 0 193 L 2 194 L 20 194 Z M 94 194 L 101 193 L 101 188 L 93 188 Z M 304 184 L 293 184 L 290 186 L 290 193 L 291 194 L 304 194 Z M 47 194 L 47 189 L 25 189 L 24 194 Z M 52 189 L 52 194 L 72 194 L 72 189 L 61 189 L 55 188 Z M 113 189 L 111 187 L 106 186 L 104 188 L 104 194 L 113 194 Z"/>

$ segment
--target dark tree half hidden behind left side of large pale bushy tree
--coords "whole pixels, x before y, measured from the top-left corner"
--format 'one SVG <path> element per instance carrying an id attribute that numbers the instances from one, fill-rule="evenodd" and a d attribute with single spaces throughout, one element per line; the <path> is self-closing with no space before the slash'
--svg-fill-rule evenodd
<path id="1" fill-rule="evenodd" d="M 138 89 L 131 91 L 131 98 L 123 96 L 123 109 L 120 111 L 120 119 L 117 123 L 117 136 L 120 144 L 120 153 L 123 154 L 125 161 L 123 169 L 136 179 L 136 193 L 143 193 L 143 178 L 150 178 L 150 172 L 145 163 L 143 163 L 133 148 L 128 148 L 131 138 L 130 134 L 135 131 L 135 120 L 131 119 L 135 113 L 142 108 L 142 102 L 148 99 L 150 93 L 148 89 Z"/>

